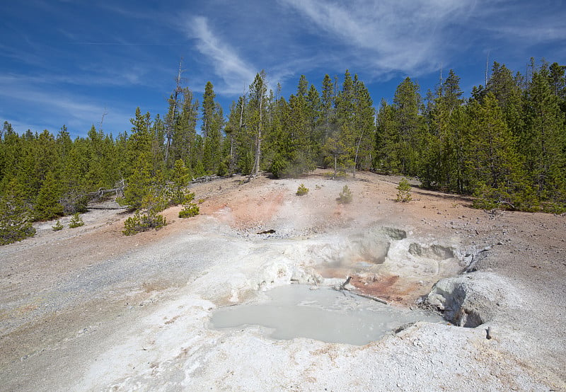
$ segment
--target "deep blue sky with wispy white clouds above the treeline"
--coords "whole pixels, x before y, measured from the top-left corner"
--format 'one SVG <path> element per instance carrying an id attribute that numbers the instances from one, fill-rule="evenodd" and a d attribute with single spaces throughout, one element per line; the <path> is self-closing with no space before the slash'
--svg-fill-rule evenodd
<path id="1" fill-rule="evenodd" d="M 103 113 L 114 135 L 138 106 L 166 113 L 180 59 L 185 85 L 202 100 L 212 81 L 226 115 L 261 69 L 285 97 L 301 74 L 320 91 L 350 69 L 377 107 L 406 76 L 424 96 L 440 69 L 469 96 L 487 57 L 566 64 L 565 1 L 26 0 L 0 14 L 0 121 L 73 137 Z"/>

